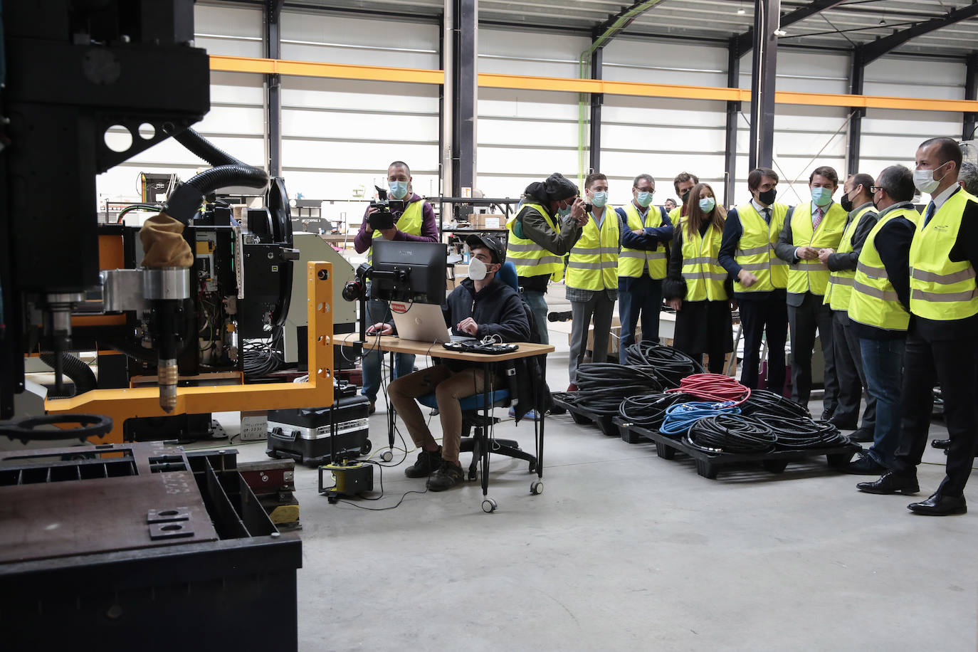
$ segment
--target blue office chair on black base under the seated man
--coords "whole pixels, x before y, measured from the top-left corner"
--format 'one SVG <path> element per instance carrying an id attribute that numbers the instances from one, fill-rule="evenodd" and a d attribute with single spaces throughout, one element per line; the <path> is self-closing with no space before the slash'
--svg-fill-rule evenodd
<path id="1" fill-rule="evenodd" d="M 510 261 L 503 263 L 503 268 L 499 271 L 499 278 L 503 283 L 508 283 L 514 290 L 519 291 L 519 284 L 516 281 L 516 267 Z M 525 306 L 524 306 L 525 308 Z M 527 309 L 528 310 L 528 309 Z M 493 408 L 509 408 L 516 402 L 516 375 L 513 361 L 501 364 L 504 378 L 508 380 L 506 387 L 494 388 L 489 395 L 490 405 Z M 437 408 L 435 395 L 425 394 L 418 398 L 422 406 Z M 499 418 L 490 415 L 488 418 L 480 413 L 483 409 L 482 393 L 467 396 L 460 401 L 462 405 L 462 453 L 471 452 L 472 461 L 468 465 L 468 479 L 474 480 L 478 460 L 482 456 L 484 447 L 490 446 L 488 431 L 489 427 L 499 422 Z M 474 432 L 473 432 L 474 430 Z M 469 433 L 473 436 L 469 437 Z M 529 470 L 532 473 L 537 468 L 537 458 L 519 448 L 518 442 L 511 439 L 493 438 L 492 448 L 489 453 L 522 459 L 529 462 Z"/>

